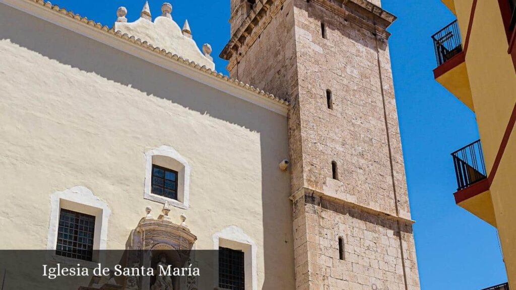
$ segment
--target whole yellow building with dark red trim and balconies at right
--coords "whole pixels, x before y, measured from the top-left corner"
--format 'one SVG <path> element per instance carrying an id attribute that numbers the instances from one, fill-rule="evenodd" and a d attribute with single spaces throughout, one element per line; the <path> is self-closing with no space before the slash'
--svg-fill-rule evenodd
<path id="1" fill-rule="evenodd" d="M 496 227 L 509 285 L 516 288 L 516 1 L 442 2 L 457 20 L 432 36 L 434 77 L 475 112 L 480 133 L 480 140 L 452 153 L 455 200 Z"/>

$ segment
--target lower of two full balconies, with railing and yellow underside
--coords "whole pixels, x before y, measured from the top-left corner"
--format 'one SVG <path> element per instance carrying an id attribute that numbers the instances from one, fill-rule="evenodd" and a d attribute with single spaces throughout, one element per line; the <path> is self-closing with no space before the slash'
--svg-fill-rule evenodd
<path id="1" fill-rule="evenodd" d="M 480 140 L 451 153 L 457 178 L 455 202 L 466 211 L 496 227 L 490 183 Z"/>

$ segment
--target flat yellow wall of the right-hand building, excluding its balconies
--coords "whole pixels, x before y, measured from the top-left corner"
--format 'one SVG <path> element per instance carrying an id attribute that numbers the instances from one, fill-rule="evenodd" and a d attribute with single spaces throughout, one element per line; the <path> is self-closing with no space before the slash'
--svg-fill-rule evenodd
<path id="1" fill-rule="evenodd" d="M 463 37 L 466 35 L 471 1 L 455 1 Z M 465 17 L 464 15 L 468 15 Z M 463 28 L 465 27 L 465 28 Z M 466 54 L 475 113 L 488 174 L 502 143 L 516 103 L 516 73 L 497 1 L 477 1 Z M 513 130 L 514 131 L 514 130 Z M 516 287 L 516 136 L 512 132 L 490 191 L 496 226 L 511 288 Z"/>

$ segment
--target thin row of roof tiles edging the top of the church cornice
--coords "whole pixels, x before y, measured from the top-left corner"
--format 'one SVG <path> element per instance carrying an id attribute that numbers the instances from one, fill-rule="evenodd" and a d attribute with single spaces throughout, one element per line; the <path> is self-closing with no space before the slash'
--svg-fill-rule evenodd
<path id="1" fill-rule="evenodd" d="M 22 1 L 22 0 L 20 0 L 20 1 Z M 122 33 L 122 31 L 120 31 L 120 30 L 117 31 L 114 28 L 109 28 L 107 25 L 102 25 L 99 22 L 89 20 L 88 18 L 82 17 L 79 14 L 75 14 L 72 11 L 68 11 L 66 8 L 59 7 L 58 5 L 52 5 L 52 3 L 44 1 L 44 0 L 23 0 L 23 1 L 38 4 L 44 8 L 47 8 L 47 9 L 55 12 L 55 13 L 58 13 L 65 17 L 68 17 L 71 20 L 76 21 L 77 23 L 88 26 L 91 29 L 96 29 L 96 30 L 102 31 L 102 33 L 108 34 L 112 37 L 116 37 L 116 38 L 126 41 L 128 43 L 131 43 L 132 45 L 146 49 L 156 55 L 166 57 L 173 62 L 179 63 L 180 65 L 190 67 L 191 69 L 196 69 L 200 72 L 205 73 L 206 75 L 211 75 L 212 77 L 216 77 L 223 82 L 227 82 L 228 84 L 232 84 L 237 87 L 246 89 L 256 95 L 261 96 L 262 98 L 265 98 L 272 102 L 275 102 L 275 103 L 279 104 L 280 106 L 285 106 L 285 107 L 289 106 L 289 102 L 286 99 L 278 98 L 277 96 L 275 96 L 273 94 L 264 92 L 263 90 L 257 89 L 253 86 L 250 86 L 248 84 L 240 82 L 238 79 L 230 78 L 229 76 L 219 73 L 206 66 L 201 66 L 194 61 L 185 59 L 177 54 L 172 54 L 171 52 L 168 52 L 165 49 L 160 49 L 159 47 L 150 44 L 148 41 L 142 41 L 141 39 L 139 39 L 135 36 L 128 35 L 127 33 Z"/>

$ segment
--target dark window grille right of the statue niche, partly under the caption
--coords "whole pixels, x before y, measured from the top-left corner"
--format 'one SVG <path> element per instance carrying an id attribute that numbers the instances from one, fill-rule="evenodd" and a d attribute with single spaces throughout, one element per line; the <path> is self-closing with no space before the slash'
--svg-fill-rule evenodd
<path id="1" fill-rule="evenodd" d="M 244 252 L 219 247 L 219 287 L 244 290 Z"/>

